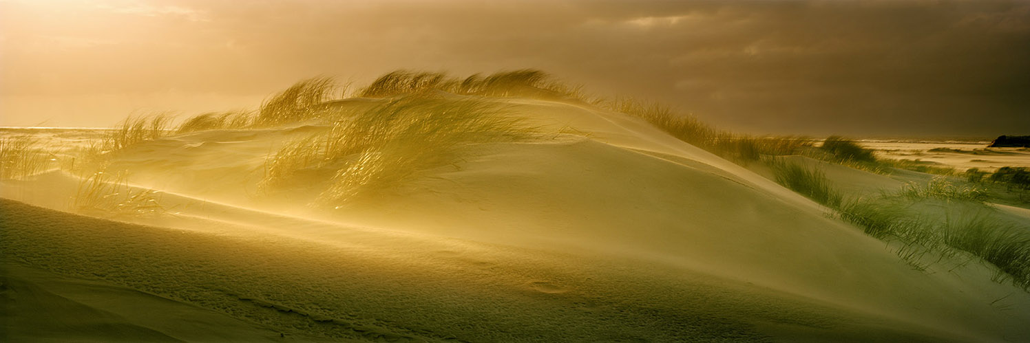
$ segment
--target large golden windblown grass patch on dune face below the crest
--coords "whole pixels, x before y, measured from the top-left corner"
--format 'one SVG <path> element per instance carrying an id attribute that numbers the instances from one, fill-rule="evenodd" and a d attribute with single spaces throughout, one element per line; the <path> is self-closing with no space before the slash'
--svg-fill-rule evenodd
<path id="1" fill-rule="evenodd" d="M 535 136 L 521 118 L 506 112 L 478 98 L 397 98 L 269 156 L 260 188 L 274 192 L 317 182 L 327 186 L 316 203 L 338 206 L 394 188 L 421 170 L 452 164 L 460 146 Z"/>

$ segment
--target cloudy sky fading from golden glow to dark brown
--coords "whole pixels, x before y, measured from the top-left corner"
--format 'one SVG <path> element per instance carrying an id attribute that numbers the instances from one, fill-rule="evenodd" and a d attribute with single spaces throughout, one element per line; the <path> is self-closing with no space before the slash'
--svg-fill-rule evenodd
<path id="1" fill-rule="evenodd" d="M 1030 135 L 1030 1 L 0 0 L 0 125 L 535 68 L 777 135 Z"/>

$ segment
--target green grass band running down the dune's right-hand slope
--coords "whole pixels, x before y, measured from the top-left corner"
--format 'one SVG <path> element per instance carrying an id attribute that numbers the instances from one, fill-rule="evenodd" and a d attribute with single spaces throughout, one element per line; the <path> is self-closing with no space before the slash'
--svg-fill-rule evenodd
<path id="1" fill-rule="evenodd" d="M 914 269 L 926 270 L 945 257 L 968 254 L 996 267 L 1014 284 L 1030 289 L 1030 232 L 992 217 L 992 208 L 983 203 L 984 190 L 958 187 L 938 177 L 926 186 L 912 183 L 880 197 L 846 201 L 818 169 L 781 161 L 770 165 L 777 183 L 836 209 L 838 218 L 865 234 L 894 243 L 895 255 Z M 954 214 L 953 208 L 962 206 L 950 206 L 953 202 L 981 212 Z M 927 206 L 942 213 L 921 213 Z"/>

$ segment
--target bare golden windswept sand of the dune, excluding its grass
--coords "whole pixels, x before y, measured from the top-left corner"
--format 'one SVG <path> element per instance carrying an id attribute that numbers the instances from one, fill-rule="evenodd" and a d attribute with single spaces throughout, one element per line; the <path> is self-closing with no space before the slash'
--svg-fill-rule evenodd
<path id="1" fill-rule="evenodd" d="M 227 328 L 109 316 L 145 340 L 1030 337 L 1030 295 L 991 281 L 988 266 L 914 270 L 819 204 L 646 122 L 576 103 L 497 101 L 542 127 L 580 134 L 464 147 L 461 163 L 334 212 L 253 194 L 268 152 L 324 129 L 317 123 L 131 148 L 115 164 L 133 172 L 134 186 L 162 192 L 170 209 L 158 218 L 65 213 L 78 180 L 63 172 L 6 182 L 4 197 L 24 201 L 0 202 L 0 254 L 16 271 L 7 277 L 22 289 L 43 288 L 39 275 L 52 273 L 69 284 L 139 291 Z M 900 183 L 826 168 L 855 192 Z M 38 301 L 59 303 L 52 298 Z M 135 302 L 109 299 L 122 305 L 88 306 L 124 318 L 117 309 Z M 139 307 L 150 306 L 162 305 Z M 6 313 L 25 320 L 20 327 L 44 328 Z M 108 337 L 91 333 L 77 335 Z"/>

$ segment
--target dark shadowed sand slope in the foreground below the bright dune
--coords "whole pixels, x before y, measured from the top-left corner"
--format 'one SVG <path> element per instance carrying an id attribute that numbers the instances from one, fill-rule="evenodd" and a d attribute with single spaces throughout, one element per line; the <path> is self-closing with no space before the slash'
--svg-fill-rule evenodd
<path id="1" fill-rule="evenodd" d="M 0 206 L 15 341 L 972 338 L 634 261 L 455 241 L 366 250 Z"/>

